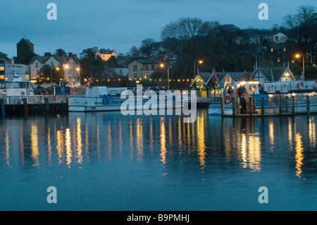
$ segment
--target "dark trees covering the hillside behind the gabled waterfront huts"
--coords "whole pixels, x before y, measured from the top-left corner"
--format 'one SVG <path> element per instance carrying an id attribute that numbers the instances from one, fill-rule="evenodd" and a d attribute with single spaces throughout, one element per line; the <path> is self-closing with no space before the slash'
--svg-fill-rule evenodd
<path id="1" fill-rule="evenodd" d="M 287 61 L 294 60 L 294 55 L 299 53 L 304 55 L 307 66 L 316 66 L 317 16 L 314 6 L 299 6 L 296 14 L 282 17 L 281 25 L 261 30 L 240 29 L 232 24 L 220 25 L 217 21 L 201 18 L 180 18 L 163 28 L 161 41 L 144 39 L 141 46 L 133 46 L 128 55 L 173 61 L 170 68 L 172 78 L 192 77 L 194 62 L 199 60 L 204 61 L 199 64 L 200 72 L 211 72 L 212 68 L 217 71 L 253 71 L 256 48 L 266 47 L 268 39 L 265 37 L 278 32 L 287 35 Z M 252 35 L 258 35 L 260 43 L 250 43 Z M 293 67 L 298 71 L 301 63 L 295 63 Z M 158 71 L 155 74 L 162 73 Z"/>

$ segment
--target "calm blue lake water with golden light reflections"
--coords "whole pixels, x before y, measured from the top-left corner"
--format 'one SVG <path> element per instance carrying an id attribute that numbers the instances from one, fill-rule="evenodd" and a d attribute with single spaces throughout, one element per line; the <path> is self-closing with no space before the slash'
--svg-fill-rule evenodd
<path id="1" fill-rule="evenodd" d="M 316 121 L 207 109 L 195 123 L 120 112 L 5 118 L 0 210 L 316 210 Z"/>

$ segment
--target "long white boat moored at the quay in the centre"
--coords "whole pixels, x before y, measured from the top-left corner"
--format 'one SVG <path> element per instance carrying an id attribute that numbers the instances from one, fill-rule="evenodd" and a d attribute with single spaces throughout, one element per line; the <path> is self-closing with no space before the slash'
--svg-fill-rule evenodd
<path id="1" fill-rule="evenodd" d="M 120 95 L 124 90 L 128 90 L 128 88 L 86 87 L 85 95 L 70 95 L 68 97 L 68 111 L 120 111 L 121 105 L 127 100 L 126 98 L 120 98 Z M 142 92 L 139 94 L 142 96 Z M 157 107 L 157 109 L 159 109 L 160 103 L 162 102 L 159 102 L 159 96 L 157 97 L 158 101 L 156 104 L 151 104 L 151 107 Z M 173 97 L 170 99 L 172 99 L 170 102 L 168 99 L 163 102 L 164 107 L 168 108 L 169 106 L 172 106 L 175 108 L 175 101 L 178 100 L 174 100 Z M 137 95 L 135 95 L 135 103 L 133 103 L 135 109 L 142 110 L 147 101 L 148 99 L 144 97 L 139 101 Z"/>

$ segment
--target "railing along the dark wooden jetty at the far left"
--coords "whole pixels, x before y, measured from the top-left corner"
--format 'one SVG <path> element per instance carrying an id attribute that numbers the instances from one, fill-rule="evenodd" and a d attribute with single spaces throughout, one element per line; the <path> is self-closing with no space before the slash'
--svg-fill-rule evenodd
<path id="1" fill-rule="evenodd" d="M 4 104 L 23 104 L 23 99 L 27 99 L 28 104 L 44 103 L 45 99 L 49 99 L 49 103 L 66 102 L 68 95 L 27 95 L 27 96 L 1 96 L 4 99 Z"/>

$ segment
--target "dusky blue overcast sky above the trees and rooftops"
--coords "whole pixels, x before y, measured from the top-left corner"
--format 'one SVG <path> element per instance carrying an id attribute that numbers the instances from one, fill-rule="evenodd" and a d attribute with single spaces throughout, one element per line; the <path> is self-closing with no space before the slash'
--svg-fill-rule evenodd
<path id="1" fill-rule="evenodd" d="M 50 2 L 57 6 L 57 20 L 46 18 Z M 268 20 L 258 18 L 261 2 L 268 4 Z M 178 18 L 271 28 L 301 5 L 316 6 L 316 0 L 1 0 L 0 51 L 16 56 L 26 27 L 39 55 L 58 48 L 80 54 L 89 47 L 125 54 L 142 39 L 161 40 L 163 27 Z"/>

